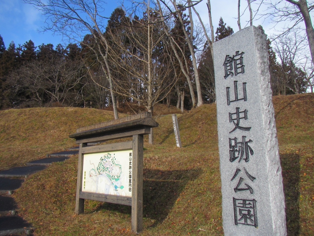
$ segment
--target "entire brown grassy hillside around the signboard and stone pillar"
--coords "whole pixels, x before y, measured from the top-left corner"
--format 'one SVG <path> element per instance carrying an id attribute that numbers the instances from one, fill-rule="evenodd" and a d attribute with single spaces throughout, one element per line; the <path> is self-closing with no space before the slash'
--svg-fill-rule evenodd
<path id="1" fill-rule="evenodd" d="M 314 235 L 314 94 L 273 98 L 284 178 L 288 235 Z M 154 145 L 144 138 L 141 235 L 223 235 L 215 104 L 178 115 L 183 147 L 176 148 L 171 115 L 160 109 Z M 122 115 L 121 115 L 122 116 Z M 0 112 L 1 168 L 44 157 L 74 144 L 77 127 L 113 118 L 81 108 Z M 77 156 L 26 179 L 14 193 L 19 214 L 36 235 L 133 235 L 131 207 L 85 200 L 74 215 Z"/>

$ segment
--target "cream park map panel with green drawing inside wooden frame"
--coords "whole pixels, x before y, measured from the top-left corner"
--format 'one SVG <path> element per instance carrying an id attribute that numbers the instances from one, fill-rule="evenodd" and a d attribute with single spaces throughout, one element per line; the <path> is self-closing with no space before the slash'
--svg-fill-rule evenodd
<path id="1" fill-rule="evenodd" d="M 84 154 L 82 191 L 132 197 L 132 149 Z"/>

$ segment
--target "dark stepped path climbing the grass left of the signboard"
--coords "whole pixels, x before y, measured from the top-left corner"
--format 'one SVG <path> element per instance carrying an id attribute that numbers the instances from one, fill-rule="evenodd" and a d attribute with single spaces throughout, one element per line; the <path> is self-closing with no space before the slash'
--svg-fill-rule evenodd
<path id="1" fill-rule="evenodd" d="M 26 166 L 0 171 L 0 236 L 32 235 L 34 228 L 22 217 L 16 215 L 17 204 L 10 195 L 21 186 L 25 177 L 46 169 L 53 162 L 64 161 L 70 155 L 77 153 L 78 147 L 73 147 L 68 151 L 47 154 L 46 158 L 30 161 L 26 163 Z"/>

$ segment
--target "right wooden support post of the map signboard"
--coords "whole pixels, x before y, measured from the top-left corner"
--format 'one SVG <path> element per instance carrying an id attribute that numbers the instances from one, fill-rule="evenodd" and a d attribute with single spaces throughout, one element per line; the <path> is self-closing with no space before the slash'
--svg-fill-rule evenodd
<path id="1" fill-rule="evenodd" d="M 133 135 L 132 165 L 132 220 L 131 229 L 139 233 L 143 229 L 143 135 Z"/>

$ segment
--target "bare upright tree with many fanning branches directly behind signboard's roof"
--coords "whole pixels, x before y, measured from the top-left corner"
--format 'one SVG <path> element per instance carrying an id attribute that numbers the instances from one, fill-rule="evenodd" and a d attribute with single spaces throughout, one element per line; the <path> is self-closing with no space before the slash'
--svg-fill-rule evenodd
<path id="1" fill-rule="evenodd" d="M 172 71 L 172 50 L 168 50 L 168 39 L 162 30 L 158 9 L 153 4 L 142 2 L 143 17 L 125 20 L 122 27 L 107 28 L 110 34 L 108 45 L 111 68 L 120 75 L 114 81 L 117 93 L 143 104 L 153 112 L 154 104 L 163 100 L 176 78 Z M 149 136 L 153 143 L 153 133 Z"/>

